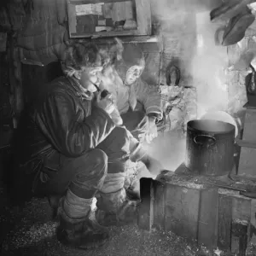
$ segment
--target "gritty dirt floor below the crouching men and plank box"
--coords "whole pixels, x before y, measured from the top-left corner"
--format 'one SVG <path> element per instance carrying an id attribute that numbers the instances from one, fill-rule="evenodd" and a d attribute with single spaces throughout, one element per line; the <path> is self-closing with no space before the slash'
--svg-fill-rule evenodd
<path id="1" fill-rule="evenodd" d="M 32 199 L 22 209 L 9 205 L 3 190 L 0 195 L 0 254 L 44 256 L 209 256 L 205 247 L 196 247 L 172 233 L 139 230 L 137 225 L 111 228 L 108 244 L 93 251 L 79 251 L 61 245 L 55 237 L 57 222 L 51 220 L 51 209 L 46 199 Z M 248 253 L 247 255 L 256 255 Z"/>

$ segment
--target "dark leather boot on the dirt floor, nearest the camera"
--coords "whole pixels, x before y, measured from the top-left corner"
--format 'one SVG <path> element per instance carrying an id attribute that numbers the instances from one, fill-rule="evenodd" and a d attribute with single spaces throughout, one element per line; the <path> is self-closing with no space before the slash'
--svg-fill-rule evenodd
<path id="1" fill-rule="evenodd" d="M 84 218 L 70 218 L 60 210 L 60 225 L 57 238 L 61 243 L 80 249 L 93 249 L 108 241 L 108 229 L 90 218 L 90 213 Z"/>

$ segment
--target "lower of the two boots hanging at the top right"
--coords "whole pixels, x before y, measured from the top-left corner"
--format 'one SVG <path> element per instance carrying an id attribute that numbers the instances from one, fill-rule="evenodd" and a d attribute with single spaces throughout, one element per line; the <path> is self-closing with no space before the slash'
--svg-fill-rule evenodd
<path id="1" fill-rule="evenodd" d="M 225 29 L 222 45 L 232 45 L 241 41 L 245 36 L 248 26 L 252 25 L 255 16 L 251 13 L 236 15 Z"/>

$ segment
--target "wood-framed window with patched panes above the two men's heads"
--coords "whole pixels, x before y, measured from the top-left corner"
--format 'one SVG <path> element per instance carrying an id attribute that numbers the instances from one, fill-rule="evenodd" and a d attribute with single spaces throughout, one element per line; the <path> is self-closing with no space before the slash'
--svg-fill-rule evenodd
<path id="1" fill-rule="evenodd" d="M 150 0 L 67 0 L 67 11 L 70 38 L 151 35 Z"/>

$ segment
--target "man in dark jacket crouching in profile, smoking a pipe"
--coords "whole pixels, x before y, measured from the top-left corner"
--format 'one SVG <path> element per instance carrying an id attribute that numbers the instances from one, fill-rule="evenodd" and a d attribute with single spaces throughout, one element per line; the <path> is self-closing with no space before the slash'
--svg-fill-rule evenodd
<path id="1" fill-rule="evenodd" d="M 93 44 L 69 47 L 63 61 L 67 77 L 38 91 L 18 129 L 17 156 L 26 189 L 33 195 L 62 196 L 57 237 L 80 248 L 108 239 L 107 228 L 90 213 L 94 197 L 99 212 L 105 212 L 101 216 L 124 220 L 124 209 L 132 205 L 125 195 L 129 161 L 142 160 L 155 174 L 161 170 L 124 126 L 115 125 L 111 95 L 101 98 L 96 91 L 103 62 Z"/>

